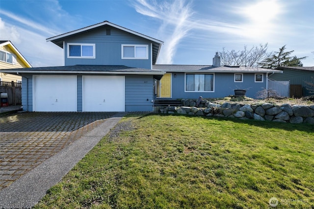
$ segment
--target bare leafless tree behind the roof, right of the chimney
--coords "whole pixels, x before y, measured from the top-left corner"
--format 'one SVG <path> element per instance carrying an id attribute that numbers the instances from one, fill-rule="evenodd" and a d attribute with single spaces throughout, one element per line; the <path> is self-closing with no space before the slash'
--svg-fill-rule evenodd
<path id="1" fill-rule="evenodd" d="M 253 46 L 251 49 L 244 46 L 241 51 L 226 51 L 222 48 L 222 52 L 219 52 L 220 62 L 222 65 L 237 65 L 247 67 L 258 67 L 258 63 L 270 56 L 271 53 L 267 53 L 268 44 L 260 44 L 260 47 Z"/>

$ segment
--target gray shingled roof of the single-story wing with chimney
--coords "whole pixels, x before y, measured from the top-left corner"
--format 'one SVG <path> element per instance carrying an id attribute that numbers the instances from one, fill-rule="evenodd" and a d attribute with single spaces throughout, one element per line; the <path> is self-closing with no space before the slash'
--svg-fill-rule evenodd
<path id="1" fill-rule="evenodd" d="M 244 66 L 220 66 L 212 65 L 153 65 L 153 70 L 163 72 L 185 72 L 185 73 L 282 73 L 280 70 L 244 67 Z"/>

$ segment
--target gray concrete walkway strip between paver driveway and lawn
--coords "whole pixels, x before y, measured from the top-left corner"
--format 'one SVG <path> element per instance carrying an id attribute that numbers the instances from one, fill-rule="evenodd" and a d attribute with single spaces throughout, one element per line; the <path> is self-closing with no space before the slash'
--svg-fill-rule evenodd
<path id="1" fill-rule="evenodd" d="M 102 120 L 91 131 L 83 132 L 77 140 L 0 190 L 0 208 L 33 207 L 124 115 L 125 113 L 117 113 Z"/>

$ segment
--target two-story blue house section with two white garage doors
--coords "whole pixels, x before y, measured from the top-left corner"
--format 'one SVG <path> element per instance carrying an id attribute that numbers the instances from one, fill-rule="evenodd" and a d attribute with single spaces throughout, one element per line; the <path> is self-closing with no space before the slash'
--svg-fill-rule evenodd
<path id="1" fill-rule="evenodd" d="M 152 111 L 151 70 L 162 41 L 110 22 L 48 38 L 64 66 L 7 70 L 22 76 L 26 111 Z"/>

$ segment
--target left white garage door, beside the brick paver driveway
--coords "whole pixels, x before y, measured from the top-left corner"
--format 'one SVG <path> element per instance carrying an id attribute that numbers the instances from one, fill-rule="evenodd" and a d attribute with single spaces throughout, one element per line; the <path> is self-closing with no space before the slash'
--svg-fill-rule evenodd
<path id="1" fill-rule="evenodd" d="M 77 111 L 77 76 L 34 76 L 33 111 Z"/>

